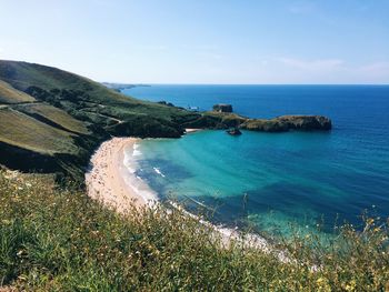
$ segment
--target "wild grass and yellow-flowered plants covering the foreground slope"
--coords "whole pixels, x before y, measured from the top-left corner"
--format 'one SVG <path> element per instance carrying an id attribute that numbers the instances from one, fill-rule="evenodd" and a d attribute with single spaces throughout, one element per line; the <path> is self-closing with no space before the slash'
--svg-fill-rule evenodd
<path id="1" fill-rule="evenodd" d="M 102 208 L 50 177 L 0 171 L 0 286 L 40 291 L 388 291 L 388 222 L 345 225 L 322 246 L 298 234 L 271 253 L 221 248 L 166 209 Z M 0 289 L 1 290 L 1 289 Z"/>

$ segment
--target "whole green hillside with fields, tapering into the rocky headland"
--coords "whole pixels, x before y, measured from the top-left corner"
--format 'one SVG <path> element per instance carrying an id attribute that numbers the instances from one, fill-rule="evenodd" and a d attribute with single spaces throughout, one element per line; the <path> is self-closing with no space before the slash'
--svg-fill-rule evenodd
<path id="1" fill-rule="evenodd" d="M 329 130 L 325 117 L 253 120 L 137 100 L 84 77 L 0 60 L 0 164 L 83 180 L 92 151 L 116 137 L 179 138 L 184 128 Z"/>

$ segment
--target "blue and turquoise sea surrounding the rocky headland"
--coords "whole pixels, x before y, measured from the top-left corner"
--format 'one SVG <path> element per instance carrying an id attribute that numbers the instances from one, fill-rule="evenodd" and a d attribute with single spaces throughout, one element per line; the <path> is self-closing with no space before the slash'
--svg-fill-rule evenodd
<path id="1" fill-rule="evenodd" d="M 330 132 L 201 131 L 143 141 L 138 175 L 161 198 L 213 210 L 213 220 L 287 235 L 331 232 L 345 220 L 389 217 L 388 85 L 151 85 L 123 90 L 150 101 L 210 110 L 231 103 L 251 118 L 323 114 Z M 194 203 L 196 202 L 196 203 Z"/>

